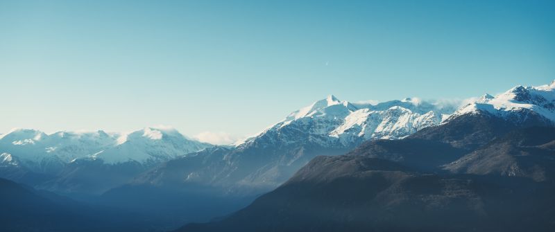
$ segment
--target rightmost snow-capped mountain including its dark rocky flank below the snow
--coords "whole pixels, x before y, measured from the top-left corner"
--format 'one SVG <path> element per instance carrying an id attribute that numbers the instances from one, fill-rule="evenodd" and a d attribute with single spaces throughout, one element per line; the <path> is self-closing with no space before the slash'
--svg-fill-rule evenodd
<path id="1" fill-rule="evenodd" d="M 554 87 L 552 82 L 540 87 L 513 87 L 495 97 L 485 94 L 463 105 L 441 125 L 426 127 L 410 137 L 474 150 L 511 130 L 554 126 Z"/>

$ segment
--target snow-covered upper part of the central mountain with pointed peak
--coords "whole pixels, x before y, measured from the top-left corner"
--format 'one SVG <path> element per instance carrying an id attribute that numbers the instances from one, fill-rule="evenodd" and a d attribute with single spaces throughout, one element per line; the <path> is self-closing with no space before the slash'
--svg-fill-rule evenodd
<path id="1" fill-rule="evenodd" d="M 352 145 L 369 139 L 402 139 L 431 125 L 438 125 L 445 116 L 452 114 L 454 106 L 413 100 L 392 100 L 371 104 L 353 104 L 327 96 L 313 104 L 293 111 L 283 121 L 268 127 L 264 132 L 247 139 L 239 146 L 253 143 L 257 138 L 275 132 L 296 128 L 309 138 L 282 138 L 284 142 L 314 140 L 324 147 Z M 268 141 L 272 143 L 273 141 Z"/>

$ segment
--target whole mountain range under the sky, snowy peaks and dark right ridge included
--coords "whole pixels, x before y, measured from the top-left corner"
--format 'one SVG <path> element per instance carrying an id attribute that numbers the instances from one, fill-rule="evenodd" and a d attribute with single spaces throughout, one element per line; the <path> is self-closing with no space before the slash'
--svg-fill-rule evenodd
<path id="1" fill-rule="evenodd" d="M 0 135 L 0 177 L 165 229 L 227 215 L 180 231 L 549 231 L 554 89 L 460 107 L 327 96 L 226 146 L 169 127 L 12 130 Z"/>

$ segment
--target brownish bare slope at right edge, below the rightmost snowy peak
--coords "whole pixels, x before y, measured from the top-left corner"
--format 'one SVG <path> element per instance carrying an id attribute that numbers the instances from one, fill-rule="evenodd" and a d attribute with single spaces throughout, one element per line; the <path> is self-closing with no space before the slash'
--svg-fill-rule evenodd
<path id="1" fill-rule="evenodd" d="M 445 169 L 456 173 L 554 182 L 555 127 L 515 130 L 447 164 Z"/>

